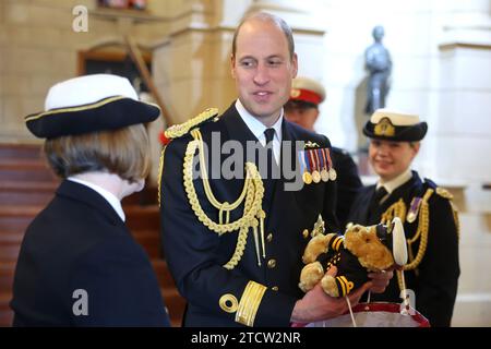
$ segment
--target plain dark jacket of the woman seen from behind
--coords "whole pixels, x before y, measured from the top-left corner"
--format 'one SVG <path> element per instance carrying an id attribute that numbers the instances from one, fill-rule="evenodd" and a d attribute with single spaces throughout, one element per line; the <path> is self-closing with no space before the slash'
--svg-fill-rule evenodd
<path id="1" fill-rule="evenodd" d="M 11 308 L 14 326 L 169 326 L 142 246 L 101 195 L 69 180 L 25 232 Z"/>

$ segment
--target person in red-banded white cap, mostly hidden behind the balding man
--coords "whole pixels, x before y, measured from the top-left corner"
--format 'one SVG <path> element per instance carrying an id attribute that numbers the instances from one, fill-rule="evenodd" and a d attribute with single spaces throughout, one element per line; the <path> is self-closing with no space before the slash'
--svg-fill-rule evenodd
<path id="1" fill-rule="evenodd" d="M 324 99 L 325 89 L 320 83 L 309 77 L 296 77 L 292 82 L 290 99 L 285 105 L 285 118 L 307 130 L 314 131 L 319 105 Z M 340 228 L 344 228 L 349 208 L 362 183 L 358 176 L 358 167 L 348 152 L 333 146 L 331 156 L 337 172 L 336 217 Z"/>

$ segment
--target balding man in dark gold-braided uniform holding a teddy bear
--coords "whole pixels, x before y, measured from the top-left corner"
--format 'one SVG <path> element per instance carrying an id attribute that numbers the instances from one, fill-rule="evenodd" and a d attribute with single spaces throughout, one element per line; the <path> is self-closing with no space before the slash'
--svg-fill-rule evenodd
<path id="1" fill-rule="evenodd" d="M 321 215 L 328 231 L 337 227 L 330 142 L 283 117 L 297 74 L 290 27 L 271 14 L 248 16 L 235 33 L 231 73 L 239 98 L 228 110 L 207 110 L 165 132 L 161 241 L 188 301 L 184 326 L 289 326 L 337 316 L 347 311 L 346 300 L 328 297 L 320 285 L 306 294 L 298 287 L 314 222 Z M 224 170 L 229 152 L 221 152 L 229 141 L 240 146 L 231 177 Z M 286 147 L 295 141 L 303 141 L 298 154 Z M 267 161 L 250 156 L 251 145 Z M 320 157 L 326 159 L 322 167 Z M 282 164 L 297 158 L 306 183 L 287 190 Z M 224 170 L 215 176 L 214 159 Z M 368 288 L 383 290 L 392 272 L 372 277 L 351 302 Z"/>

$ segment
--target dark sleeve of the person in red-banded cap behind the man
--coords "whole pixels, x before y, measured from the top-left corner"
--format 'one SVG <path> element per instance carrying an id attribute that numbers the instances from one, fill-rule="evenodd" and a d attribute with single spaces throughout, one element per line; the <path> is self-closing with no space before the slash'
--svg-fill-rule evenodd
<path id="1" fill-rule="evenodd" d="M 348 152 L 333 146 L 331 156 L 337 172 L 336 217 L 339 227 L 344 229 L 348 222 L 349 209 L 363 184 L 358 174 L 358 167 Z"/>

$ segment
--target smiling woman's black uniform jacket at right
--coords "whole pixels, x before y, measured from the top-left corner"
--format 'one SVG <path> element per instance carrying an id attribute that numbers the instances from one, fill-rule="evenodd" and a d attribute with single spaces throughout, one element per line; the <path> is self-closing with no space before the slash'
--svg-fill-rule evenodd
<path id="1" fill-rule="evenodd" d="M 422 197 L 429 188 L 434 190 L 436 185 L 428 179 L 421 181 L 418 173 L 412 171 L 411 179 L 395 189 L 370 216 L 369 206 L 375 192 L 375 185 L 367 186 L 355 201 L 349 221 L 361 225 L 379 224 L 382 214 L 399 198 L 403 198 L 409 212 L 411 200 L 416 196 Z M 429 210 L 427 251 L 417 272 L 404 272 L 406 288 L 415 291 L 416 310 L 430 321 L 431 326 L 450 326 L 460 274 L 457 227 L 450 201 L 436 192 L 429 200 Z M 418 218 L 411 224 L 408 221 L 404 224 L 407 239 L 415 236 L 417 227 Z M 417 255 L 418 248 L 419 240 L 412 243 L 414 256 Z M 397 277 L 394 275 L 384 293 L 372 293 L 371 297 L 373 301 L 400 303 L 399 292 Z"/>

